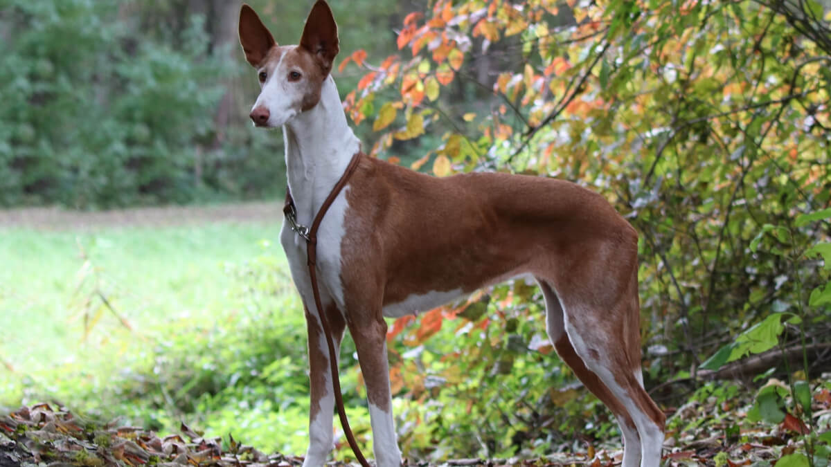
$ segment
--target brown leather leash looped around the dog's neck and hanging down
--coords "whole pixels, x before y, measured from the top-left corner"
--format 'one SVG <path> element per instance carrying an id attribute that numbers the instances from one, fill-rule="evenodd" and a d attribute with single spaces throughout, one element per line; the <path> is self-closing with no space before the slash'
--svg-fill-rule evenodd
<path id="1" fill-rule="evenodd" d="M 332 342 L 332 333 L 329 332 L 329 321 L 327 320 L 326 312 L 323 310 L 321 304 L 320 291 L 317 289 L 317 272 L 315 271 L 315 264 L 317 261 L 317 229 L 320 227 L 323 216 L 326 215 L 327 210 L 329 210 L 329 206 L 331 206 L 335 201 L 337 195 L 341 193 L 341 190 L 347 184 L 347 181 L 349 181 L 352 173 L 355 172 L 355 169 L 360 161 L 361 151 L 358 151 L 352 156 L 352 161 L 350 161 L 347 166 L 347 170 L 343 172 L 343 175 L 341 175 L 341 179 L 337 180 L 337 184 L 335 184 L 335 187 L 332 188 L 332 192 L 329 193 L 327 199 L 323 201 L 320 210 L 317 211 L 317 215 L 312 221 L 312 227 L 310 229 L 306 229 L 302 225 L 297 224 L 297 208 L 294 206 L 294 199 L 292 198 L 292 194 L 288 192 L 288 189 L 286 191 L 286 205 L 283 207 L 283 214 L 286 215 L 286 219 L 289 221 L 289 224 L 291 224 L 292 230 L 294 230 L 302 238 L 306 239 L 306 263 L 309 267 L 309 278 L 312 280 L 312 294 L 314 294 L 314 304 L 315 307 L 317 307 L 317 316 L 320 317 L 323 333 L 326 334 L 326 343 L 329 347 L 329 366 L 332 369 L 332 390 L 335 392 L 337 415 L 341 419 L 343 433 L 347 435 L 349 446 L 352 448 L 352 452 L 355 454 L 358 462 L 360 462 L 363 467 L 370 467 L 369 462 L 366 461 L 366 458 L 363 453 L 361 453 L 361 449 L 355 441 L 355 435 L 352 435 L 352 428 L 349 427 L 349 420 L 347 420 L 347 411 L 343 408 L 341 378 L 337 372 L 335 344 Z"/>

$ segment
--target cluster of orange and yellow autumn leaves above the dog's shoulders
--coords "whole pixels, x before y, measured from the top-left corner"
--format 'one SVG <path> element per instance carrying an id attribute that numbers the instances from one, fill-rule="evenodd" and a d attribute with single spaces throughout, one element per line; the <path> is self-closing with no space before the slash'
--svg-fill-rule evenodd
<path id="1" fill-rule="evenodd" d="M 455 170 L 470 169 L 487 147 L 520 135 L 514 128 L 515 122 L 507 121 L 513 114 L 506 113 L 505 106 L 500 106 L 498 112 L 479 114 L 481 119 L 470 111 L 464 116 L 452 116 L 443 110 L 447 101 L 440 98 L 463 71 L 473 47 L 486 52 L 487 47 L 502 38 L 520 35 L 524 40 L 530 37 L 537 41 L 540 49 L 543 45 L 553 44 L 553 32 L 549 31 L 543 15 L 557 14 L 558 7 L 552 2 L 541 2 L 533 7 L 499 0 L 484 2 L 485 7 L 481 4 L 438 0 L 430 10 L 411 12 L 405 17 L 396 45 L 402 52 L 409 53 L 387 57 L 380 66 L 367 63 L 365 51 L 354 52 L 342 61 L 340 70 L 350 63 L 366 70 L 356 90 L 347 96 L 345 107 L 356 124 L 368 119 L 372 130 L 381 133 L 371 147 L 371 155 L 379 155 L 395 140 L 418 138 L 430 131 L 431 125 L 432 131 L 440 131 L 438 136 L 445 142 L 454 135 L 464 135 L 465 140 L 476 135 L 471 138 L 475 143 L 439 145 L 411 165 L 418 169 L 433 160 L 432 172 L 445 176 Z M 501 73 L 494 83 L 494 96 L 519 99 L 518 104 L 526 107 L 523 111 L 530 109 L 528 123 L 536 125 L 553 111 L 550 102 L 543 105 L 539 102 L 550 101 L 549 96 L 562 95 L 566 91 L 561 81 L 575 74 L 574 57 L 574 54 L 563 52 L 545 52 L 542 66 L 528 65 L 518 73 Z M 393 90 L 397 95 L 391 98 L 389 91 Z M 453 90 L 456 91 L 455 86 Z M 379 102 L 381 99 L 383 101 Z M 597 97 L 576 99 L 565 111 L 586 114 L 604 104 Z M 475 145 L 480 146 L 476 148 Z"/>

